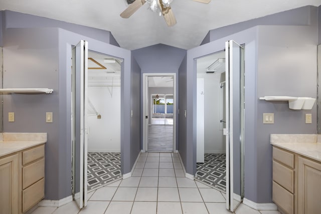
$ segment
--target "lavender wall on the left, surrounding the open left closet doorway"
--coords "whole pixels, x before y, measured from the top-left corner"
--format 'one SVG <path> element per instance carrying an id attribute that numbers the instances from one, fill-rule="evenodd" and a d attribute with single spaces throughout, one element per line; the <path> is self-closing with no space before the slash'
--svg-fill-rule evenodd
<path id="1" fill-rule="evenodd" d="M 128 100 L 133 96 L 131 91 L 136 91 L 140 83 L 131 88 L 131 58 L 130 51 L 101 42 L 84 35 L 75 34 L 58 28 L 42 28 L 46 26 L 47 19 L 39 18 L 41 28 L 17 28 L 15 24 L 22 22 L 37 23 L 37 17 L 10 13 L 15 16 L 6 16 L 3 28 L 3 46 L 5 53 L 4 87 L 39 87 L 52 88 L 53 94 L 10 94 L 4 96 L 4 112 L 16 114 L 16 121 L 9 123 L 4 118 L 4 131 L 6 132 L 47 132 L 46 143 L 46 183 L 45 198 L 58 200 L 71 195 L 71 46 L 80 40 L 86 40 L 89 50 L 109 56 L 124 59 L 122 63 L 121 82 L 121 164 L 122 173 L 130 172 L 133 159 L 137 154 L 140 141 L 132 143 L 132 139 L 140 136 L 131 136 L 131 129 L 136 128 L 136 122 L 131 123 L 130 110 L 134 115 L 139 115 L 140 107 L 137 102 L 128 105 Z M 11 22 L 14 19 L 14 22 Z M 48 21 L 50 25 L 51 21 Z M 10 23 L 10 25 L 7 25 Z M 92 37 L 95 30 L 91 31 Z M 101 32 L 97 38 L 101 39 Z M 20 63 L 17 63 L 20 62 Z M 139 78 L 137 78 L 139 74 Z M 140 80 L 140 70 L 133 76 L 136 82 Z M 137 99 L 139 100 L 140 91 Z M 45 123 L 45 112 L 53 112 L 53 123 Z M 55 116 L 56 115 L 56 116 Z M 138 116 L 139 117 L 139 116 Z M 136 118 L 137 120 L 137 118 Z M 28 125 L 32 121 L 32 126 Z M 138 127 L 139 129 L 139 127 Z M 133 152 L 129 149 L 133 148 Z M 136 149 L 134 149 L 136 147 Z M 136 152 L 136 153 L 135 153 Z M 137 156 L 137 155 L 136 155 Z"/>

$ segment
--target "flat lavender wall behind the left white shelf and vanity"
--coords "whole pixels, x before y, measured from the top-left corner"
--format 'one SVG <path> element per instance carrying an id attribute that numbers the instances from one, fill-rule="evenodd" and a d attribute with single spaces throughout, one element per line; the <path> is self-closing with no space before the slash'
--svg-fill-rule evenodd
<path id="1" fill-rule="evenodd" d="M 61 161 L 66 153 L 59 142 L 59 61 L 57 29 L 10 29 L 4 32 L 4 88 L 52 88 L 53 94 L 4 95 L 4 115 L 15 112 L 15 122 L 3 118 L 4 132 L 47 132 L 46 143 L 46 198 L 60 199 L 66 188 Z M 17 63 L 19 62 L 19 63 Z M 67 109 L 66 109 L 67 110 Z M 53 123 L 45 122 L 46 112 L 53 112 Z M 32 125 L 30 125 L 32 124 Z M 70 141 L 69 141 L 70 142 Z M 66 141 L 65 141 L 66 143 Z M 69 194 L 71 174 L 69 170 Z M 63 194 L 65 195 L 65 194 Z"/>

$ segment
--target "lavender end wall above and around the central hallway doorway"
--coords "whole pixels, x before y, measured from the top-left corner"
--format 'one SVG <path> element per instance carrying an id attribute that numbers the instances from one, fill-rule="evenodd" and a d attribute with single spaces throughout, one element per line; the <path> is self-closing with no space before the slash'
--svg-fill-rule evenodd
<path id="1" fill-rule="evenodd" d="M 182 63 L 182 60 L 186 54 L 186 50 L 175 48 L 168 45 L 158 44 L 149 46 L 146 48 L 136 49 L 131 52 L 134 58 L 136 59 L 141 73 L 176 73 L 178 76 L 178 70 Z M 176 84 L 178 86 L 178 78 L 176 78 Z M 141 77 L 142 81 L 142 77 Z M 142 85 L 141 85 L 142 93 Z M 177 93 L 176 103 L 179 99 L 179 94 Z M 141 94 L 142 97 L 142 94 Z M 141 98 L 142 105 L 142 98 Z M 176 115 L 178 115 L 178 108 Z M 142 108 L 141 108 L 142 115 Z M 142 124 L 141 118 L 141 124 Z M 141 130 L 142 136 L 142 130 Z M 142 139 L 141 139 L 142 143 Z M 141 145 L 142 146 L 142 145 Z M 178 126 L 176 126 L 176 148 L 178 149 Z"/>

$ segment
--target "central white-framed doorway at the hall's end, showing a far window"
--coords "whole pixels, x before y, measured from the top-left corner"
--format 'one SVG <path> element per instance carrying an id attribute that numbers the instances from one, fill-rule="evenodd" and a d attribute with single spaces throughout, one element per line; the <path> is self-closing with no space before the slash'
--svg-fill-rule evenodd
<path id="1" fill-rule="evenodd" d="M 176 151 L 176 74 L 143 74 L 143 151 Z"/>

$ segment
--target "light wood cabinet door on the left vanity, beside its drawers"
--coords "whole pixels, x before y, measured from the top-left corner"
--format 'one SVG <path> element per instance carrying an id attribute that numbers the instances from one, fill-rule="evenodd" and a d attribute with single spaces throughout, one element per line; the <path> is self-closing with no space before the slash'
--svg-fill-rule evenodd
<path id="1" fill-rule="evenodd" d="M 19 213 L 19 155 L 0 159 L 0 214 Z"/>

